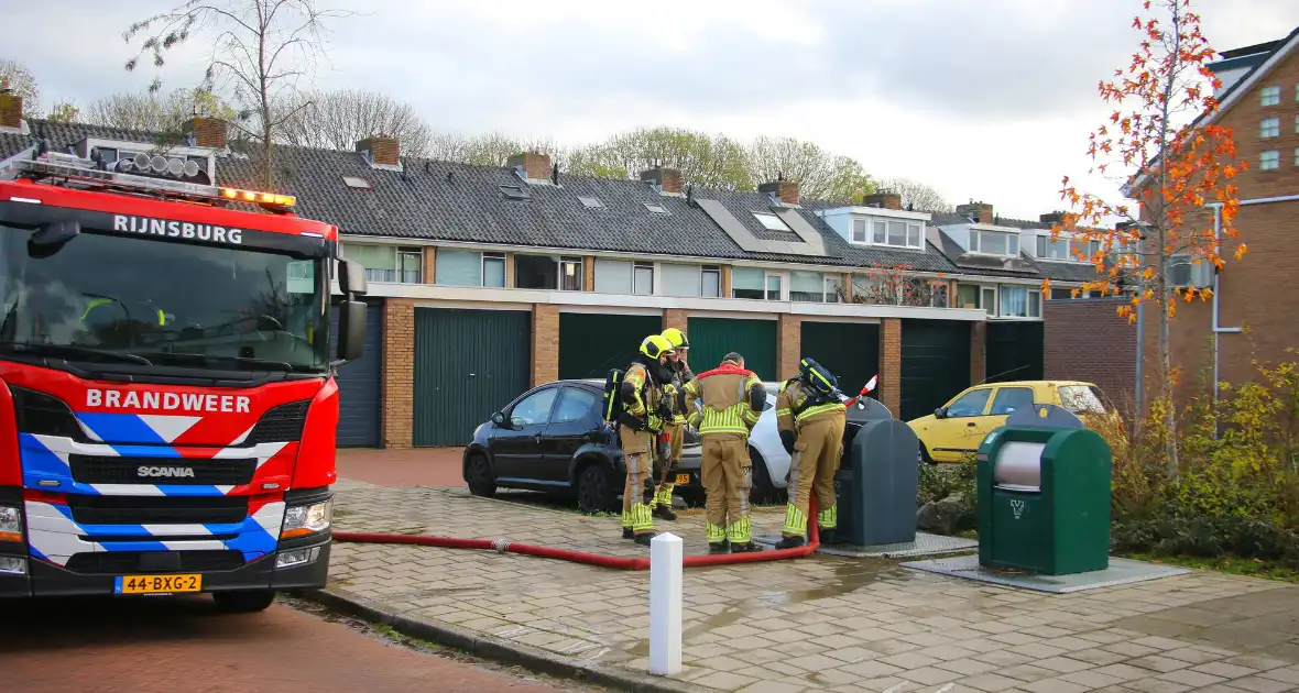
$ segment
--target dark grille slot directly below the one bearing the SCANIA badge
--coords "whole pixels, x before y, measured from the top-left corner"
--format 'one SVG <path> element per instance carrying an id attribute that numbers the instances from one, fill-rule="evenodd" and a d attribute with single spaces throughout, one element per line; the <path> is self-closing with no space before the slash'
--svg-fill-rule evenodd
<path id="1" fill-rule="evenodd" d="M 78 524 L 236 524 L 248 517 L 246 496 L 68 496 Z"/>

